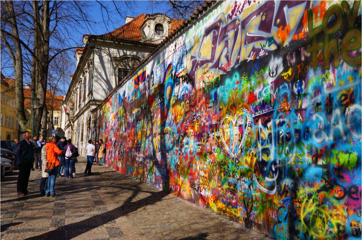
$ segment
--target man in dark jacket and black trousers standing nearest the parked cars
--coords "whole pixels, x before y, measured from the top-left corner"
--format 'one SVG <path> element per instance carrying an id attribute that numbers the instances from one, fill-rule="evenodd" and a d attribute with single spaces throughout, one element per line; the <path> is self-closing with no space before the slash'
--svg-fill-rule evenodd
<path id="1" fill-rule="evenodd" d="M 34 161 L 34 148 L 30 142 L 31 134 L 29 131 L 23 133 L 24 140 L 19 142 L 15 148 L 16 164 L 19 166 L 19 176 L 17 182 L 17 191 L 19 196 L 29 194 L 28 183 L 30 171 Z"/>

